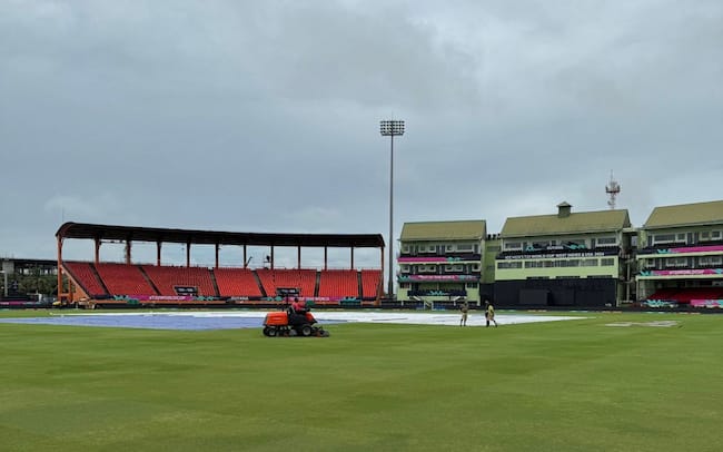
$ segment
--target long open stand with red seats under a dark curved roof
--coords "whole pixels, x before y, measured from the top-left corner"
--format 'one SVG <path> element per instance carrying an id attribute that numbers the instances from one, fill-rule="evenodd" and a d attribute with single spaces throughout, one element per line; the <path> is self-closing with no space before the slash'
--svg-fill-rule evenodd
<path id="1" fill-rule="evenodd" d="M 380 234 L 267 234 L 234 233 L 198 229 L 177 229 L 157 227 L 133 227 L 119 225 L 99 225 L 68 222 L 56 233 L 58 239 L 58 259 L 62 258 L 63 243 L 67 239 L 95 242 L 93 263 L 61 265 L 57 271 L 57 303 L 61 306 L 80 304 L 83 306 L 102 306 L 105 304 L 145 306 L 145 305 L 209 305 L 229 306 L 278 304 L 277 288 L 294 288 L 298 296 L 310 302 L 336 304 L 345 298 L 359 298 L 367 295 L 369 304 L 379 303 L 379 279 L 382 271 L 361 274 L 356 269 L 317 271 L 308 268 L 275 268 L 275 247 L 301 248 L 350 248 L 351 266 L 354 252 L 359 248 L 375 248 L 384 254 L 384 238 Z M 105 243 L 126 243 L 125 264 L 100 263 L 100 249 Z M 152 243 L 157 245 L 156 264 L 131 264 L 133 243 Z M 161 264 L 164 244 L 182 244 L 186 246 L 186 265 L 170 266 Z M 216 259 L 212 268 L 191 266 L 192 245 L 214 245 Z M 221 246 L 244 247 L 244 262 L 248 263 L 247 246 L 270 247 L 266 264 L 270 268 L 250 269 L 247 267 L 222 267 L 219 264 Z M 231 264 L 234 265 L 234 264 Z M 301 266 L 299 253 L 299 267 Z M 325 252 L 324 268 L 327 268 Z M 70 284 L 65 285 L 65 276 L 70 276 Z M 320 281 L 324 284 L 320 284 Z M 321 288 L 319 288 L 321 285 Z M 65 288 L 67 287 L 67 292 Z M 363 288 L 364 287 L 364 288 Z M 323 294 L 319 294 L 319 291 Z M 89 299 L 92 298 L 92 299 Z"/>

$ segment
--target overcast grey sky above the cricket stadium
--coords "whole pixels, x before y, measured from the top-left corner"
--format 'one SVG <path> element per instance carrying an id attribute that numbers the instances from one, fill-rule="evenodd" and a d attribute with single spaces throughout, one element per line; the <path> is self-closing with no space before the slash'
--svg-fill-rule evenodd
<path id="1" fill-rule="evenodd" d="M 390 117 L 395 239 L 606 209 L 611 170 L 641 226 L 723 199 L 722 86 L 720 0 L 3 0 L 0 256 L 63 222 L 388 240 Z"/>

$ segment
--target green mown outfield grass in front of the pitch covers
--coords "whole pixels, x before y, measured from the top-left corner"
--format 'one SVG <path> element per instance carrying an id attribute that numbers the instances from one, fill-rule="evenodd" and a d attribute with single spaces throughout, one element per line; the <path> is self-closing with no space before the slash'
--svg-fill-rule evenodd
<path id="1" fill-rule="evenodd" d="M 0 450 L 723 450 L 723 316 L 585 315 L 328 338 L 0 324 Z"/>

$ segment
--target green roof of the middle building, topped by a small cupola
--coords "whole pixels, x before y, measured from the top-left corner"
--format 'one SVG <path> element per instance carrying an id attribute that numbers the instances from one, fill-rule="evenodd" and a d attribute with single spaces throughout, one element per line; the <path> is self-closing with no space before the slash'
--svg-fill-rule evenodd
<path id="1" fill-rule="evenodd" d="M 561 204 L 558 207 L 570 207 Z M 614 232 L 630 227 L 627 209 L 570 213 L 567 216 L 535 215 L 507 218 L 502 237 Z"/>

